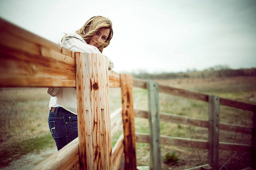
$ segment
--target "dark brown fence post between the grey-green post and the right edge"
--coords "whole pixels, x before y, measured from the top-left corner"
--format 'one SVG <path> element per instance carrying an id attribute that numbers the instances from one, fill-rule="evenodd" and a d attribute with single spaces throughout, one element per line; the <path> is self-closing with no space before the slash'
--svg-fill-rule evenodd
<path id="1" fill-rule="evenodd" d="M 220 99 L 217 96 L 209 95 L 209 162 L 214 170 L 218 168 L 219 163 L 219 112 Z"/>

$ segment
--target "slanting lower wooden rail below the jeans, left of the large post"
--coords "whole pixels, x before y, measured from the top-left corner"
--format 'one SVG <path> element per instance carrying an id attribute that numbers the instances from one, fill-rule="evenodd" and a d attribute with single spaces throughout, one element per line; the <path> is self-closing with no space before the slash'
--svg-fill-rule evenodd
<path id="1" fill-rule="evenodd" d="M 59 169 L 79 169 L 78 137 L 34 168 L 34 170 Z"/>

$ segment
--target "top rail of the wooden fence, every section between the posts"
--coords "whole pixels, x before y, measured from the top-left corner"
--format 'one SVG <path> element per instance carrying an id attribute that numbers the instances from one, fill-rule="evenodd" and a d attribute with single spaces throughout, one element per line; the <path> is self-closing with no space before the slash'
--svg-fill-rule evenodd
<path id="1" fill-rule="evenodd" d="M 0 87 L 76 87 L 75 53 L 0 18 Z M 109 71 L 109 87 L 120 87 L 120 74 Z M 134 78 L 133 86 L 146 88 Z M 208 102 L 208 94 L 159 85 L 165 92 Z M 256 105 L 220 98 L 220 104 L 255 111 Z"/>

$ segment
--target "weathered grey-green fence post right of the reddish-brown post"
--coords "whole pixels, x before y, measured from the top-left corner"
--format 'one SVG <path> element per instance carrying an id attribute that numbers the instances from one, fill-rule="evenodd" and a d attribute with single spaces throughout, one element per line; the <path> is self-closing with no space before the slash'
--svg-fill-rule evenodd
<path id="1" fill-rule="evenodd" d="M 150 169 L 161 170 L 161 141 L 159 125 L 158 83 L 147 82 L 148 89 L 148 121 L 150 144 Z"/>

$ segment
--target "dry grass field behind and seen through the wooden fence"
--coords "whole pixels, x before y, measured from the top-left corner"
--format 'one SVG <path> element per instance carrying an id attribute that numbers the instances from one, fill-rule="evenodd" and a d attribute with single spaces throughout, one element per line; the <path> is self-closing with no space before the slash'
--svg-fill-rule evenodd
<path id="1" fill-rule="evenodd" d="M 255 77 L 183 78 L 155 80 L 158 83 L 183 89 L 204 92 L 232 100 L 256 104 Z M 0 89 L 0 168 L 27 153 L 40 153 L 54 148 L 55 143 L 48 128 L 48 104 L 50 96 L 46 88 Z M 120 88 L 110 89 L 110 111 L 121 107 Z M 160 111 L 208 119 L 208 103 L 160 93 Z M 147 110 L 147 91 L 134 88 L 134 108 Z M 252 113 L 236 108 L 220 106 L 220 122 L 251 126 Z M 148 120 L 135 119 L 136 132 L 148 133 Z M 161 135 L 207 140 L 208 130 L 185 124 L 160 122 Z M 118 137 L 118 136 L 117 136 Z M 115 143 L 117 137 L 112 139 Z M 220 131 L 220 141 L 251 143 L 251 135 Z M 136 143 L 137 166 L 149 165 L 149 144 Z M 207 163 L 207 150 L 177 146 L 161 146 L 162 160 L 166 153 L 176 152 L 179 163 L 162 169 L 184 169 Z M 220 151 L 219 167 L 242 169 L 250 166 L 249 153 Z M 229 160 L 230 159 L 230 160 Z M 229 161 L 228 161 L 229 160 Z M 227 163 L 226 163 L 227 162 Z M 35 162 L 34 165 L 38 164 Z M 33 168 L 33 167 L 31 167 Z"/>

